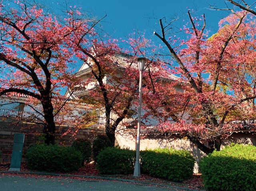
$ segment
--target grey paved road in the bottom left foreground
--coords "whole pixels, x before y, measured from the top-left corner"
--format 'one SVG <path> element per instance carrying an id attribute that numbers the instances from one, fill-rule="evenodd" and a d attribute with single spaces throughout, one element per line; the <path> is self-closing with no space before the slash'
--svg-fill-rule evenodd
<path id="1" fill-rule="evenodd" d="M 0 191 L 183 191 L 118 181 L 0 175 Z"/>

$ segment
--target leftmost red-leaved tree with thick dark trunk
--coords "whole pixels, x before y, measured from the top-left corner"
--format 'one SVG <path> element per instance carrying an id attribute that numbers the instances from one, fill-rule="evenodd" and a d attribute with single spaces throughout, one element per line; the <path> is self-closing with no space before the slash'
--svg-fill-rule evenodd
<path id="1" fill-rule="evenodd" d="M 0 95 L 28 96 L 44 118 L 45 143 L 54 144 L 54 116 L 67 100 L 60 91 L 71 83 L 68 39 L 84 23 L 75 22 L 79 11 L 66 10 L 66 18 L 58 21 L 38 4 L 8 3 L 0 3 Z"/>

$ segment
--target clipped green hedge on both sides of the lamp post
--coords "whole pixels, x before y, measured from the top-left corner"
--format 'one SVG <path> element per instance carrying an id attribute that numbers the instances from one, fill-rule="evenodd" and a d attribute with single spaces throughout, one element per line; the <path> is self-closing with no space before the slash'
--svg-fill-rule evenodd
<path id="1" fill-rule="evenodd" d="M 97 156 L 97 169 L 102 174 L 131 174 L 136 152 L 104 148 Z M 193 175 L 195 159 L 185 150 L 156 149 L 140 152 L 142 173 L 154 177 L 183 181 Z"/>

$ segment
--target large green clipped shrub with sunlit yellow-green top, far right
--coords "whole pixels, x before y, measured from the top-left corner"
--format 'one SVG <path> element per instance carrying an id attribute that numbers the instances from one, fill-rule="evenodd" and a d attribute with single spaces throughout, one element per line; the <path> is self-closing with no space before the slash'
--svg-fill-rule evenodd
<path id="1" fill-rule="evenodd" d="M 206 189 L 256 190 L 256 147 L 235 144 L 214 151 L 199 162 Z"/>

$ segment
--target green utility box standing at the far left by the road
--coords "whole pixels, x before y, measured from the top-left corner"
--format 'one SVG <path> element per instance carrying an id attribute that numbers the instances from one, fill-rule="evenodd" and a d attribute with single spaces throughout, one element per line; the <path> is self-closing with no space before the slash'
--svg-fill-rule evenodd
<path id="1" fill-rule="evenodd" d="M 24 137 L 24 134 L 14 134 L 12 159 L 9 171 L 20 171 Z"/>

